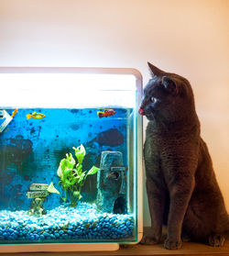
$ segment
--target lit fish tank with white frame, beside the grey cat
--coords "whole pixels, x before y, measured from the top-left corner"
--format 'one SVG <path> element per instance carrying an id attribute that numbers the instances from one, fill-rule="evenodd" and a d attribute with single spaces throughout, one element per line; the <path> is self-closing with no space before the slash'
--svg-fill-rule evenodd
<path id="1" fill-rule="evenodd" d="M 0 251 L 137 243 L 140 72 L 2 67 L 0 91 Z"/>

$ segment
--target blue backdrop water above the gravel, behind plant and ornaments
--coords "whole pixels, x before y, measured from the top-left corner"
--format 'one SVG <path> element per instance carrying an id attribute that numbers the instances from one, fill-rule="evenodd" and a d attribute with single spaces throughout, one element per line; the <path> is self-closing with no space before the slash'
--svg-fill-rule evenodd
<path id="1" fill-rule="evenodd" d="M 6 109 L 11 114 L 13 109 Z M 115 108 L 113 117 L 97 116 L 98 108 L 87 109 L 18 109 L 16 116 L 0 135 L 0 209 L 27 210 L 30 184 L 50 184 L 60 191 L 57 170 L 60 160 L 72 147 L 83 144 L 86 155 L 83 170 L 99 167 L 101 152 L 121 151 L 127 165 L 126 128 L 132 109 Z M 42 113 L 41 119 L 27 114 Z M 96 175 L 88 176 L 82 189 L 82 200 L 96 199 Z M 59 206 L 59 195 L 49 195 L 46 209 Z"/>

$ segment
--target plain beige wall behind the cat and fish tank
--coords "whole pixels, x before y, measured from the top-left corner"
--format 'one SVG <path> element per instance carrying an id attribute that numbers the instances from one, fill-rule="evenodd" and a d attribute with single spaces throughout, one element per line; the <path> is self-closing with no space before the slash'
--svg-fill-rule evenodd
<path id="1" fill-rule="evenodd" d="M 226 0 L 0 0 L 0 66 L 134 67 L 146 83 L 152 61 L 186 76 L 229 210 L 228 17 Z"/>

